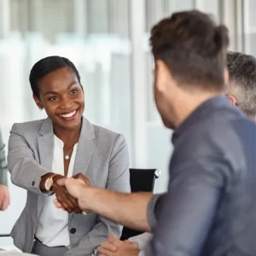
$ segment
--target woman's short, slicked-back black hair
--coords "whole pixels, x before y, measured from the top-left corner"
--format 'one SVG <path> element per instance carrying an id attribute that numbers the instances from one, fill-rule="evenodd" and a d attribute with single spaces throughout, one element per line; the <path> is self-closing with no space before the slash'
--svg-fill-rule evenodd
<path id="1" fill-rule="evenodd" d="M 29 75 L 29 82 L 31 84 L 32 93 L 34 96 L 39 97 L 38 82 L 40 79 L 43 79 L 47 74 L 61 68 L 69 67 L 73 70 L 73 73 L 76 74 L 79 84 L 80 75 L 77 68 L 74 66 L 72 61 L 69 61 L 67 58 L 60 56 L 49 56 L 40 61 L 38 61 L 33 67 Z"/>

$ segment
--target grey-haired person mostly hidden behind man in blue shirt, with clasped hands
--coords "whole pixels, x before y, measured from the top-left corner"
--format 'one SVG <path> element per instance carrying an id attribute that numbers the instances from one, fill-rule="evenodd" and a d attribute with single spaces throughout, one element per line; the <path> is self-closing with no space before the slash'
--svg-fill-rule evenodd
<path id="1" fill-rule="evenodd" d="M 230 81 L 226 83 L 225 93 L 232 105 L 241 108 L 249 119 L 256 121 L 256 58 L 241 52 L 228 52 L 227 67 Z M 128 241 L 119 241 L 109 236 L 97 250 L 108 256 L 143 256 L 152 235 L 143 233 Z M 101 255 L 101 254 L 100 254 Z"/>

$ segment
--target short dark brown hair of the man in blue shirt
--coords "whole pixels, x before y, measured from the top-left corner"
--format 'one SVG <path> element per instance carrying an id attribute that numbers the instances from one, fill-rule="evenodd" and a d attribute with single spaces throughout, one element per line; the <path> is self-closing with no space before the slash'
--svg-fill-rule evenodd
<path id="1" fill-rule="evenodd" d="M 161 20 L 151 30 L 154 59 L 164 61 L 179 84 L 224 90 L 228 29 L 197 10 Z"/>

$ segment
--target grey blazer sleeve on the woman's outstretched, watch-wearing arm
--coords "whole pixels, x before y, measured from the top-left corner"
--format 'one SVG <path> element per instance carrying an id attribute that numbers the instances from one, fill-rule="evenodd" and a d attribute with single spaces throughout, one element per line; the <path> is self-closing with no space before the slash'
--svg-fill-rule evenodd
<path id="1" fill-rule="evenodd" d="M 41 177 L 49 170 L 35 161 L 34 153 L 22 135 L 20 124 L 13 125 L 10 131 L 8 170 L 12 183 L 38 195 L 45 195 L 40 190 L 40 182 Z"/>

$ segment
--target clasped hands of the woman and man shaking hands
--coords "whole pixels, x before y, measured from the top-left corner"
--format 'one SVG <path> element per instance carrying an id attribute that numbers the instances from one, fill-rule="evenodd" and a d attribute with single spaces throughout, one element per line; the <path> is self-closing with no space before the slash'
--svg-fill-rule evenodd
<path id="1" fill-rule="evenodd" d="M 69 213 L 85 213 L 88 210 L 82 210 L 79 205 L 80 195 L 84 189 L 90 187 L 90 180 L 82 173 L 73 177 L 63 177 L 56 175 L 53 177 L 51 191 L 55 192 L 55 207 L 61 208 Z"/>

